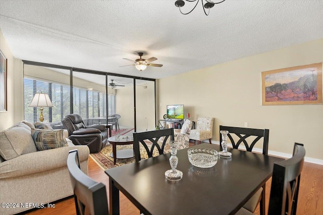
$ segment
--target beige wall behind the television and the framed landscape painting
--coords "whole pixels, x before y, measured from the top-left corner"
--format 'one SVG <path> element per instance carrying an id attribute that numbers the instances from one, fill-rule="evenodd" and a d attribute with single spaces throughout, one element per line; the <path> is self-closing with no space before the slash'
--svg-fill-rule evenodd
<path id="1" fill-rule="evenodd" d="M 270 151 L 291 154 L 294 142 L 301 142 L 306 157 L 322 160 L 323 105 L 261 105 L 261 71 L 322 61 L 319 39 L 161 79 L 159 118 L 166 105 L 184 104 L 195 121 L 215 118 L 212 140 L 219 141 L 219 125 L 248 122 L 250 128 L 270 129 Z M 175 85 L 176 94 L 169 87 Z"/>

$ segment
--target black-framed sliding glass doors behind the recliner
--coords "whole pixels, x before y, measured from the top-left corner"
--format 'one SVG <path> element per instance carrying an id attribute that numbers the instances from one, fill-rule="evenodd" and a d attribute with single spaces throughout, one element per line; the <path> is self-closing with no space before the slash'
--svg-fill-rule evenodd
<path id="1" fill-rule="evenodd" d="M 70 113 L 86 125 L 107 124 L 121 116 L 120 128 L 155 128 L 155 80 L 32 61 L 24 62 L 24 119 L 39 121 L 40 108 L 29 107 L 36 93 L 48 94 L 53 107 L 44 107 L 44 121 L 62 128 Z M 115 127 L 114 127 L 115 129 Z"/>

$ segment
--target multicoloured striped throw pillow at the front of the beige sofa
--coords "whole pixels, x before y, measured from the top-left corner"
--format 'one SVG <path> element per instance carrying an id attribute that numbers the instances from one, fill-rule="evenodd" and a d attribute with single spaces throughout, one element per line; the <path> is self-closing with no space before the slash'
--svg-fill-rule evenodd
<path id="1" fill-rule="evenodd" d="M 63 129 L 31 129 L 31 136 L 34 139 L 36 147 L 39 151 L 68 146 L 63 135 Z"/>

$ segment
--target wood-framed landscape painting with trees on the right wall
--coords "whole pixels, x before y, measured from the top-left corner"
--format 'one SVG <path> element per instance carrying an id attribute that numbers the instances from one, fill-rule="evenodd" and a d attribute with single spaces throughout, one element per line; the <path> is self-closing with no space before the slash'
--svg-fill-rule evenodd
<path id="1" fill-rule="evenodd" d="M 262 105 L 322 104 L 322 63 L 263 71 Z"/>

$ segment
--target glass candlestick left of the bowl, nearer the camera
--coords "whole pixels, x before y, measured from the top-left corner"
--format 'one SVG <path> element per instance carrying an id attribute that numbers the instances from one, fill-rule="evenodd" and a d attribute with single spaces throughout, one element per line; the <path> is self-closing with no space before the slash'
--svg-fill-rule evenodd
<path id="1" fill-rule="evenodd" d="M 167 180 L 170 181 L 179 181 L 183 178 L 183 173 L 182 171 L 179 171 L 176 169 L 177 164 L 178 164 L 178 158 L 176 156 L 177 154 L 177 142 L 171 140 L 171 157 L 170 157 L 170 164 L 171 168 L 170 170 L 167 170 L 165 172 L 165 177 Z"/>

